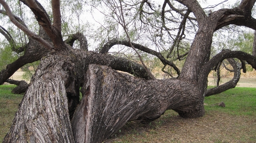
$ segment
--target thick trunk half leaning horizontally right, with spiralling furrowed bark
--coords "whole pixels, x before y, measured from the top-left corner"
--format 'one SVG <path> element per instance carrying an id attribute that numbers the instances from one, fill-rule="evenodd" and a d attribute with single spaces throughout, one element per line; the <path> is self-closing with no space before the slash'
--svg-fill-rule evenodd
<path id="1" fill-rule="evenodd" d="M 177 79 L 143 80 L 106 66 L 89 66 L 82 95 L 71 121 L 76 143 L 101 143 L 127 121 L 152 121 L 168 109 L 184 118 L 204 114 L 196 84 Z"/>

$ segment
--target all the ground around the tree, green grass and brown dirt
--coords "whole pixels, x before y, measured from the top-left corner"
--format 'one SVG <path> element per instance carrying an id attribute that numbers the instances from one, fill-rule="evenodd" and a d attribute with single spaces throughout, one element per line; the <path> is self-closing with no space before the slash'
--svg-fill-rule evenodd
<path id="1" fill-rule="evenodd" d="M 0 141 L 8 132 L 23 95 L 0 86 Z M 215 105 L 223 101 L 225 108 Z M 158 120 L 128 122 L 105 143 L 256 143 L 256 88 L 233 88 L 205 98 L 206 115 L 180 118 L 168 110 Z"/>

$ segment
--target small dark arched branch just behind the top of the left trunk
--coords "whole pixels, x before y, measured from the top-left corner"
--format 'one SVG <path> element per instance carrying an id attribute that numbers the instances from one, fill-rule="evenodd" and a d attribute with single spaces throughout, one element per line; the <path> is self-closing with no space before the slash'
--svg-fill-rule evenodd
<path id="1" fill-rule="evenodd" d="M 74 42 L 78 40 L 80 42 L 80 49 L 88 51 L 87 39 L 82 33 L 75 33 L 69 35 L 68 39 L 64 42 L 73 46 Z"/>

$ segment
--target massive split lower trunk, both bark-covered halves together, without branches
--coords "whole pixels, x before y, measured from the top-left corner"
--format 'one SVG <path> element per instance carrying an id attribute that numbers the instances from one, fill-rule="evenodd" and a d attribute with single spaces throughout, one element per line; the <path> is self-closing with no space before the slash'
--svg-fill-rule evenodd
<path id="1" fill-rule="evenodd" d="M 100 63 L 95 55 L 88 62 L 92 52 L 74 51 L 42 59 L 4 143 L 101 143 L 127 121 L 155 120 L 168 109 L 184 118 L 204 115 L 203 96 L 194 83 L 145 80 L 107 66 L 88 68 Z"/>

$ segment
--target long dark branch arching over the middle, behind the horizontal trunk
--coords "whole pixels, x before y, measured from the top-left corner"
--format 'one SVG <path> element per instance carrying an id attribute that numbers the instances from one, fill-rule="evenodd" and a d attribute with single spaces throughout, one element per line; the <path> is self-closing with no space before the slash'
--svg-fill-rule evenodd
<path id="1" fill-rule="evenodd" d="M 114 46 L 114 45 L 116 45 L 116 44 L 122 44 L 122 45 L 125 45 L 125 46 L 130 47 L 130 44 L 129 44 L 128 41 L 115 38 L 115 39 L 112 39 L 112 40 L 108 41 L 108 42 L 103 46 L 103 48 L 101 49 L 101 51 L 100 51 L 99 53 L 101 53 L 101 54 L 107 53 L 108 50 L 109 50 L 112 46 Z M 140 44 L 136 44 L 136 43 L 131 43 L 131 44 L 132 44 L 132 45 L 134 46 L 134 48 L 136 48 L 136 49 L 139 49 L 139 50 L 141 50 L 141 51 L 143 51 L 143 52 L 146 52 L 146 53 L 148 53 L 148 54 L 157 56 L 157 57 L 161 60 L 161 62 L 163 63 L 163 65 L 172 66 L 172 67 L 175 69 L 175 71 L 177 72 L 177 75 L 180 75 L 180 70 L 179 70 L 179 68 L 178 68 L 173 62 L 166 60 L 166 59 L 163 57 L 163 55 L 162 55 L 161 53 L 156 52 L 156 51 L 154 51 L 154 50 L 151 50 L 150 48 L 147 48 L 147 47 L 145 47 L 145 46 L 143 46 L 143 45 L 140 45 Z"/>

